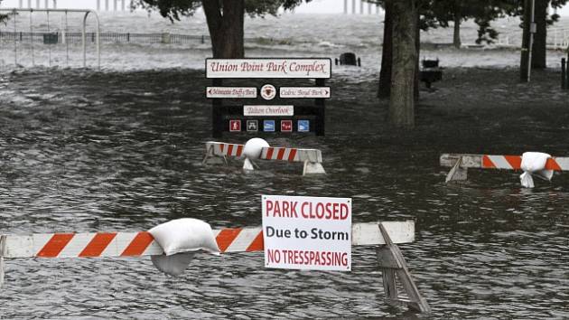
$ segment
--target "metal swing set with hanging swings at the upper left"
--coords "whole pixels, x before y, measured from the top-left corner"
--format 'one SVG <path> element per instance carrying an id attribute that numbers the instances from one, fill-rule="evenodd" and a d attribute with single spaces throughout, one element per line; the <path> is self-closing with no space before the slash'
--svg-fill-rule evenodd
<path id="1" fill-rule="evenodd" d="M 80 14 L 84 14 L 83 15 L 83 24 L 82 24 L 82 29 L 81 29 L 81 42 L 82 42 L 82 48 L 83 48 L 83 68 L 87 68 L 87 18 L 89 16 L 89 14 L 93 15 L 95 17 L 95 21 L 96 21 L 96 33 L 95 33 L 95 38 L 96 38 L 96 46 L 97 46 L 97 63 L 98 63 L 98 69 L 100 70 L 101 67 L 101 51 L 100 51 L 100 24 L 99 24 L 99 20 L 98 20 L 98 14 L 93 11 L 93 10 L 89 10 L 89 9 L 17 9 L 17 8 L 10 8 L 10 9 L 0 9 L 0 12 L 5 12 L 5 13 L 9 13 L 13 15 L 13 19 L 11 22 L 9 22 L 10 24 L 14 25 L 14 63 L 17 65 L 18 64 L 18 37 L 15 36 L 15 34 L 17 33 L 17 14 L 20 12 L 27 12 L 29 13 L 29 19 L 30 19 L 30 36 L 29 36 L 29 40 L 30 40 L 30 47 L 31 47 L 31 56 L 32 56 L 32 64 L 35 64 L 35 60 L 34 60 L 34 55 L 33 55 L 33 13 L 34 12 L 40 12 L 40 13 L 46 13 L 47 14 L 47 28 L 48 31 L 46 34 L 43 35 L 43 39 L 44 39 L 44 43 L 50 43 L 52 41 L 46 41 L 46 39 L 50 39 L 50 35 L 51 35 L 51 30 L 50 30 L 50 13 L 63 13 L 64 14 L 64 27 L 63 27 L 63 39 L 65 39 L 65 33 L 67 33 L 67 29 L 68 29 L 68 14 L 70 13 L 80 13 Z M 47 37 L 46 37 L 47 35 Z M 20 40 L 23 40 L 23 34 L 20 33 Z M 57 42 L 57 41 L 56 41 Z M 63 40 L 64 43 L 66 43 L 66 61 L 69 64 L 69 42 L 66 42 L 65 40 Z M 51 48 L 48 50 L 49 52 L 49 65 L 51 66 Z"/>

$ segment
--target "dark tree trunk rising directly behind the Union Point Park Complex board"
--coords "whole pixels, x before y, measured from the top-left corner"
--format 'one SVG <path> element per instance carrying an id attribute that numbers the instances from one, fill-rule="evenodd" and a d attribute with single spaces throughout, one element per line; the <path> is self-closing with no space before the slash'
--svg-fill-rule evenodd
<path id="1" fill-rule="evenodd" d="M 201 0 L 208 21 L 213 58 L 243 58 L 245 0 Z"/>

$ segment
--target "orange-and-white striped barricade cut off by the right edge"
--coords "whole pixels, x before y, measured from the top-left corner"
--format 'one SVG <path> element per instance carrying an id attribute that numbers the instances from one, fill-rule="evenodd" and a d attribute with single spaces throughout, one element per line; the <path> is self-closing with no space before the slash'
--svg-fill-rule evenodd
<path id="1" fill-rule="evenodd" d="M 441 155 L 441 166 L 451 167 L 446 182 L 466 180 L 468 168 L 521 170 L 521 155 Z M 569 171 L 569 157 L 547 159 L 546 170 Z"/>

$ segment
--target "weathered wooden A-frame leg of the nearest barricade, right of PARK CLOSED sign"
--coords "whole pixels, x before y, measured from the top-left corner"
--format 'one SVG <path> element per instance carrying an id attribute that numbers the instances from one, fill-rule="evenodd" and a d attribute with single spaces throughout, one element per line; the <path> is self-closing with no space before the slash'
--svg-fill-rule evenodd
<path id="1" fill-rule="evenodd" d="M 383 223 L 379 223 L 379 231 L 386 242 L 385 246 L 378 248 L 378 263 L 383 277 L 383 288 L 387 303 L 393 306 L 408 306 L 422 313 L 431 312 L 431 307 L 426 302 L 407 268 L 403 254 L 395 243 L 389 238 L 387 229 Z M 396 279 L 401 281 L 407 297 L 401 297 L 397 293 Z"/>

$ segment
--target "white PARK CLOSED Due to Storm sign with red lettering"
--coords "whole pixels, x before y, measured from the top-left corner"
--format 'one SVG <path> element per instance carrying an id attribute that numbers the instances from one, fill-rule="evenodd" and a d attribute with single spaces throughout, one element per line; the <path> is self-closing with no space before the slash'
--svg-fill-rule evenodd
<path id="1" fill-rule="evenodd" d="M 266 268 L 351 270 L 351 199 L 263 195 Z"/>

